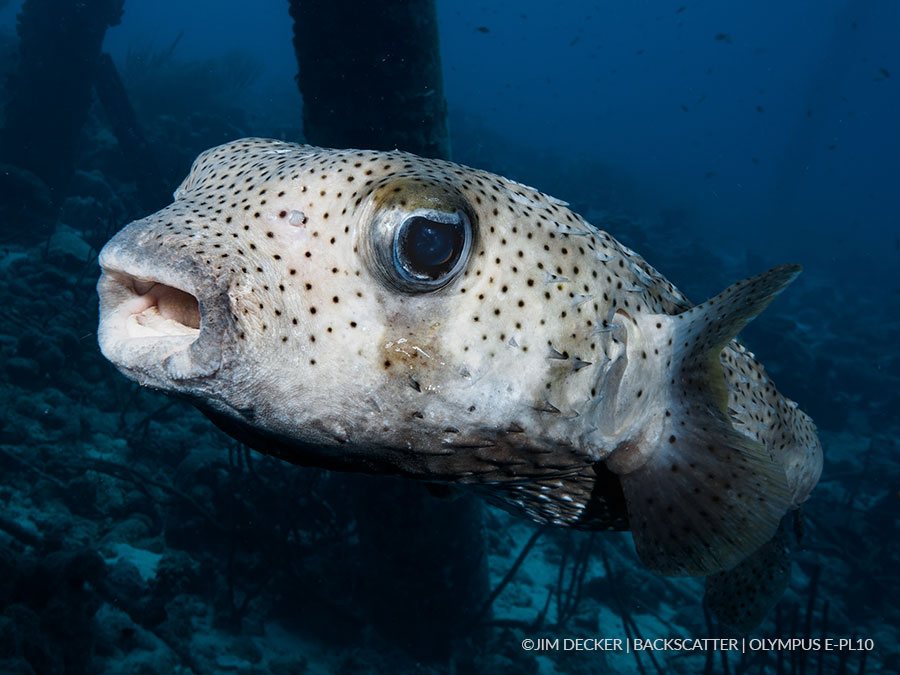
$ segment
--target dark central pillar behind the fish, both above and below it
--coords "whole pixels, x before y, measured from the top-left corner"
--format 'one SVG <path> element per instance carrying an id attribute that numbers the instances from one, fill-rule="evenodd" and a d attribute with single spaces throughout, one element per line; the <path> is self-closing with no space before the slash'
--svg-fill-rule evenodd
<path id="1" fill-rule="evenodd" d="M 433 0 L 290 0 L 290 12 L 307 142 L 449 157 Z M 473 636 L 488 593 L 480 500 L 340 480 L 360 497 L 357 595 L 378 632 L 423 656 Z"/>

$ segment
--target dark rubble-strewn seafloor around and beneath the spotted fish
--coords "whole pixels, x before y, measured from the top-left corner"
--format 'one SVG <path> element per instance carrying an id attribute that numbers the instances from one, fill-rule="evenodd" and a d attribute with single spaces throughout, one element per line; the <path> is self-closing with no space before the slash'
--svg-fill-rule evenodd
<path id="1" fill-rule="evenodd" d="M 276 124 L 233 111 L 148 113 L 145 122 L 175 182 L 207 146 L 279 133 Z M 900 318 L 877 297 L 812 278 L 779 298 L 746 336 L 782 389 L 812 412 L 825 446 L 821 483 L 803 509 L 790 588 L 753 635 L 871 639 L 872 651 L 524 651 L 525 638 L 732 633 L 704 613 L 701 581 L 646 572 L 628 534 L 536 535 L 530 522 L 488 509 L 494 587 L 523 548 L 533 547 L 492 614 L 482 615 L 478 637 L 429 659 L 415 645 L 379 634 L 367 610 L 348 600 L 352 580 L 384 564 L 372 556 L 390 553 L 361 550 L 353 510 L 334 505 L 329 474 L 248 452 L 185 404 L 131 384 L 100 356 L 97 250 L 140 210 L 97 111 L 87 134 L 52 232 L 36 233 L 3 215 L 0 671 L 900 669 L 900 364 L 891 342 Z M 298 137 L 289 128 L 281 135 Z M 455 143 L 466 157 L 466 134 Z M 514 154 L 482 159 L 487 168 L 512 172 L 519 161 Z M 577 167 L 571 171 L 578 175 Z M 582 201 L 594 196 L 585 186 Z M 654 247 L 666 239 L 671 216 L 614 211 L 595 206 L 587 216 L 675 279 L 702 264 L 717 270 L 724 288 L 759 271 L 687 243 Z M 478 609 L 473 622 L 482 620 Z M 418 620 L 427 625 L 428 617 Z"/>

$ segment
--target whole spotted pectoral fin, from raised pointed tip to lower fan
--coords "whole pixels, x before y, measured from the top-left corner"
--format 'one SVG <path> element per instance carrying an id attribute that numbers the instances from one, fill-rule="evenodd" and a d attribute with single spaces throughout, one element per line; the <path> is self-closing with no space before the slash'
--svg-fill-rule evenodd
<path id="1" fill-rule="evenodd" d="M 638 555 L 669 576 L 730 569 L 769 541 L 791 505 L 781 468 L 727 416 L 722 349 L 800 272 L 775 267 L 675 315 L 639 317 L 666 385 L 659 410 L 607 458 Z"/>

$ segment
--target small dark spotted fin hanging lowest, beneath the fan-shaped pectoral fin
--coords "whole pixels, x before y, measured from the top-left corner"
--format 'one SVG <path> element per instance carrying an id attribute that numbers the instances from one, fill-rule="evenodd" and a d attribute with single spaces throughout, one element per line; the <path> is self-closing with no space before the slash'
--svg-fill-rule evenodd
<path id="1" fill-rule="evenodd" d="M 784 595 L 791 578 L 791 516 L 770 541 L 732 567 L 706 577 L 707 607 L 722 623 L 749 633 Z"/>

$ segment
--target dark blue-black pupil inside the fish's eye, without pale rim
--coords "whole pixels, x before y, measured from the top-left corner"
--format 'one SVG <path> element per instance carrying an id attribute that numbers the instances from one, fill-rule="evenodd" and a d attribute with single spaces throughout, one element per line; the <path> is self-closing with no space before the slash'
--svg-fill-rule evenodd
<path id="1" fill-rule="evenodd" d="M 463 226 L 414 216 L 403 223 L 400 243 L 404 266 L 409 272 L 437 279 L 449 272 L 459 257 Z"/>

